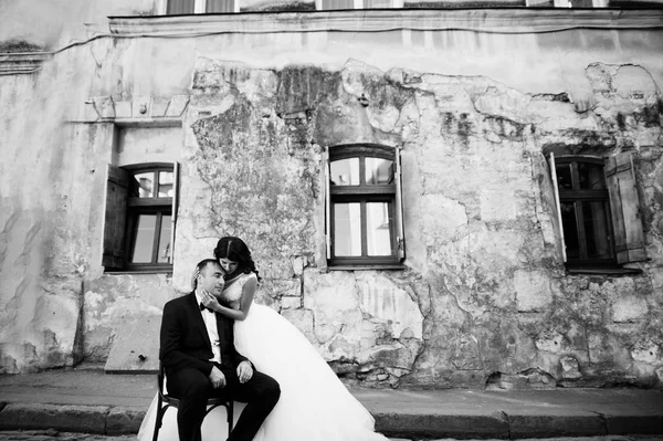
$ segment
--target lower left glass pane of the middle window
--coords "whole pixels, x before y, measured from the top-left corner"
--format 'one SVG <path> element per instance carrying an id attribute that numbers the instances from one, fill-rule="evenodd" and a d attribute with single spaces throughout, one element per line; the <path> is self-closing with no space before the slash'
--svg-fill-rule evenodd
<path id="1" fill-rule="evenodd" d="M 361 255 L 361 204 L 334 204 L 334 255 Z"/>

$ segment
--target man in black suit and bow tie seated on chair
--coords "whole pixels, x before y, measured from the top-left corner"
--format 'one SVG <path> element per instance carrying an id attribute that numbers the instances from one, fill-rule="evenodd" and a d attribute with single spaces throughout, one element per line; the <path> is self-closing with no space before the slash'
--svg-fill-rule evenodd
<path id="1" fill-rule="evenodd" d="M 164 307 L 159 358 L 168 391 L 180 399 L 180 441 L 200 441 L 207 399 L 231 398 L 246 407 L 229 441 L 251 441 L 270 414 L 281 389 L 276 380 L 253 369 L 233 345 L 233 321 L 202 306 L 203 290 L 215 297 L 223 290 L 223 270 L 214 259 L 198 264 L 194 291 Z"/>

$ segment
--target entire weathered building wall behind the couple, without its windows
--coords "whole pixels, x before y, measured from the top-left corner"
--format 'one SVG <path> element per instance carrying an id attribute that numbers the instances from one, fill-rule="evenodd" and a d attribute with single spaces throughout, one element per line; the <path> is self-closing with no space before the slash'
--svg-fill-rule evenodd
<path id="1" fill-rule="evenodd" d="M 565 12 L 112 18 L 114 38 L 0 77 L 0 366 L 104 363 L 232 234 L 264 277 L 257 301 L 350 384 L 661 387 L 663 32 L 620 30 L 634 11 L 589 11 L 607 29 Z M 146 99 L 148 117 L 119 114 Z M 104 274 L 114 133 L 176 102 L 172 276 Z M 402 146 L 404 271 L 326 266 L 320 154 L 345 143 Z M 544 157 L 559 148 L 633 153 L 641 274 L 565 271 Z M 158 345 L 146 335 L 136 346 Z"/>

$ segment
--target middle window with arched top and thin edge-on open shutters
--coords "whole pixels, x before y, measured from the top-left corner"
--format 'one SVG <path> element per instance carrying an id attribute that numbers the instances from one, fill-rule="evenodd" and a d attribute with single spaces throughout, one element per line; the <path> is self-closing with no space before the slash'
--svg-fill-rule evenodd
<path id="1" fill-rule="evenodd" d="M 400 157 L 394 147 L 344 145 L 325 154 L 330 267 L 402 267 Z"/>

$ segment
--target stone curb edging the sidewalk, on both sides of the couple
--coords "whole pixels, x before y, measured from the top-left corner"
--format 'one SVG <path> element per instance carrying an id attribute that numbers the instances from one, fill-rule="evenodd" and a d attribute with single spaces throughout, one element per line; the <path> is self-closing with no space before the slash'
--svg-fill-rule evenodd
<path id="1" fill-rule="evenodd" d="M 655 410 L 653 410 L 655 412 Z M 102 435 L 138 433 L 145 410 L 114 406 L 24 405 L 0 402 L 0 431 L 48 430 Z M 402 439 L 527 439 L 662 434 L 663 414 L 600 414 L 588 411 L 485 411 L 373 413 L 376 430 Z"/>

